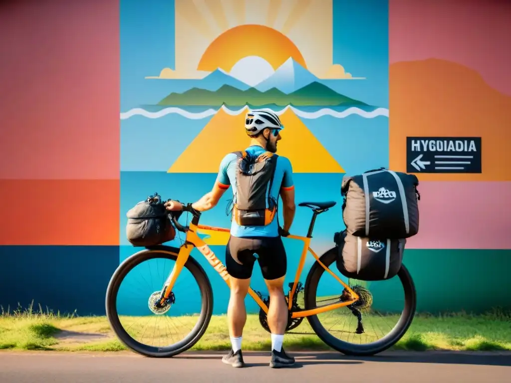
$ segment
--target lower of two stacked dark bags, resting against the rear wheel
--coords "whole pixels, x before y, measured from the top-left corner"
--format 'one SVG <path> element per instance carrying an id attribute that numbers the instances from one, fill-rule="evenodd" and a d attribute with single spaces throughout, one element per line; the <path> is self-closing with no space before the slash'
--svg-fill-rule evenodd
<path id="1" fill-rule="evenodd" d="M 344 239 L 342 239 L 344 236 Z M 406 240 L 375 240 L 341 234 L 337 269 L 347 278 L 376 281 L 398 274 Z"/>

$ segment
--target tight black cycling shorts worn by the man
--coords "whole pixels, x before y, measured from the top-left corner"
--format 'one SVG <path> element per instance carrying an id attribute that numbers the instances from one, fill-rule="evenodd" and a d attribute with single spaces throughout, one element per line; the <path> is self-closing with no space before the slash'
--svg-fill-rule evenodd
<path id="1" fill-rule="evenodd" d="M 256 260 L 259 261 L 264 279 L 285 276 L 287 257 L 281 236 L 229 237 L 225 249 L 225 267 L 231 276 L 237 279 L 250 278 Z"/>

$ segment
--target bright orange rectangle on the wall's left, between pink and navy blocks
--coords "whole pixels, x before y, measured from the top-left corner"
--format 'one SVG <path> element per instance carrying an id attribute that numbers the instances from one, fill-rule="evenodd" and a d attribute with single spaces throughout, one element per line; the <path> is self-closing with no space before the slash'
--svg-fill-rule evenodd
<path id="1" fill-rule="evenodd" d="M 0 180 L 0 245 L 119 245 L 119 180 Z"/>

